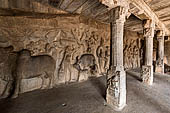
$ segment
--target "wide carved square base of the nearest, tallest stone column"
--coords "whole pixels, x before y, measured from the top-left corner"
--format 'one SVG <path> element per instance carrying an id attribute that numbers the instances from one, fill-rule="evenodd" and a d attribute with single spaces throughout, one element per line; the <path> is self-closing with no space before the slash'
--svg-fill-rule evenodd
<path id="1" fill-rule="evenodd" d="M 106 101 L 114 110 L 120 111 L 126 106 L 126 73 L 114 71 L 107 79 Z"/>

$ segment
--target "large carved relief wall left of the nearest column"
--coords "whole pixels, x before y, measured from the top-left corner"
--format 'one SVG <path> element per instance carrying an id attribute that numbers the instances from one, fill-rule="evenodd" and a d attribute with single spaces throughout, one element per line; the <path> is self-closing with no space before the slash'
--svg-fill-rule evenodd
<path id="1" fill-rule="evenodd" d="M 27 22 L 30 20 L 25 19 L 25 24 L 27 25 Z M 16 20 L 13 18 L 8 21 Z M 10 84 L 14 82 L 15 89 L 13 97 L 17 97 L 19 93 L 35 89 L 51 88 L 61 83 L 84 81 L 91 76 L 97 77 L 104 75 L 109 68 L 110 37 L 108 31 L 96 29 L 82 23 L 78 25 L 72 24 L 70 27 L 70 22 L 68 26 L 64 24 L 62 27 L 44 27 L 39 23 L 38 27 L 36 25 L 22 25 L 21 27 L 20 25 L 13 25 L 12 22 L 10 24 L 13 27 L 6 25 L 0 27 L 0 36 L 3 36 L 6 40 L 1 41 L 0 46 L 13 46 L 11 53 L 16 54 L 14 63 L 16 62 L 17 65 L 14 66 L 15 74 L 11 71 L 8 71 L 9 74 L 6 75 L 0 74 L 1 83 L 4 84 L 1 86 L 4 89 L 1 91 L 2 96 L 9 96 L 10 89 L 13 88 Z M 23 51 L 27 51 L 25 52 L 27 54 L 21 58 Z M 2 56 L 6 55 L 5 53 L 2 54 L 4 54 Z M 52 64 L 52 67 L 46 72 L 38 72 L 39 74 L 35 72 L 35 69 L 31 70 L 29 66 L 43 66 L 44 64 L 23 60 L 24 58 L 42 60 L 42 56 L 51 56 L 54 61 L 49 63 L 48 61 L 50 60 L 47 60 L 46 65 Z M 5 56 L 5 58 L 8 57 Z M 3 63 L 6 61 L 3 57 L 0 60 Z M 10 59 L 7 59 L 7 61 L 10 62 Z M 1 65 L 3 64 L 0 63 Z M 11 67 L 8 68 L 12 69 Z M 0 71 L 7 72 L 4 68 L 1 69 Z M 24 73 L 21 75 L 20 72 L 23 70 Z M 41 69 L 36 70 L 40 71 Z M 51 73 L 48 74 L 48 71 Z M 29 76 L 27 76 L 28 73 L 30 73 Z M 6 80 L 4 76 L 10 79 Z"/>

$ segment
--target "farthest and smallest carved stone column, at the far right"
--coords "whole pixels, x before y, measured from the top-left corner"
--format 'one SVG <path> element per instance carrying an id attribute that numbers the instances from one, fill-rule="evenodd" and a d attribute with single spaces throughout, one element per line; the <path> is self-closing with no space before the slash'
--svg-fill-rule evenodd
<path id="1" fill-rule="evenodd" d="M 156 69 L 155 72 L 164 73 L 164 31 L 160 30 L 157 33 L 158 40 L 158 58 L 156 61 Z"/>

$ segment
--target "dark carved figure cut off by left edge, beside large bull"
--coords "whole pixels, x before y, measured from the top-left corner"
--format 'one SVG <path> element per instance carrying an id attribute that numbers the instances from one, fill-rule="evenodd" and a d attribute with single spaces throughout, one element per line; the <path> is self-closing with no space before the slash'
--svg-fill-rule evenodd
<path id="1" fill-rule="evenodd" d="M 1 98 L 10 96 L 15 79 L 17 53 L 13 52 L 13 47 L 0 47 L 0 79 L 6 82 Z"/>

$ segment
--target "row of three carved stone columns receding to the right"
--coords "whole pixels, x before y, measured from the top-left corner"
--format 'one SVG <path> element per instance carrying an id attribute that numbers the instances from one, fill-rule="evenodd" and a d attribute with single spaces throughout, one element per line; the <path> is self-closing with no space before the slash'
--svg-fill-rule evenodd
<path id="1" fill-rule="evenodd" d="M 126 11 L 118 6 L 110 12 L 111 25 L 111 67 L 107 75 L 106 101 L 115 110 L 121 110 L 126 106 L 126 73 L 123 66 L 123 31 L 126 20 Z M 155 22 L 153 20 L 144 21 L 145 38 L 145 64 L 142 66 L 141 78 L 148 85 L 153 84 L 153 37 L 155 32 Z M 156 71 L 164 71 L 164 32 L 159 31 L 159 52 Z"/>

